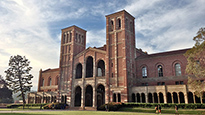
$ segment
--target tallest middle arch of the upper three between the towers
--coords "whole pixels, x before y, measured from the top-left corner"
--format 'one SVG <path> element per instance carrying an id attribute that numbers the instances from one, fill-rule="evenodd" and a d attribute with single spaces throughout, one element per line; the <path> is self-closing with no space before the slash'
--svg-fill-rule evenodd
<path id="1" fill-rule="evenodd" d="M 86 60 L 86 78 L 93 77 L 93 58 L 89 56 Z"/>

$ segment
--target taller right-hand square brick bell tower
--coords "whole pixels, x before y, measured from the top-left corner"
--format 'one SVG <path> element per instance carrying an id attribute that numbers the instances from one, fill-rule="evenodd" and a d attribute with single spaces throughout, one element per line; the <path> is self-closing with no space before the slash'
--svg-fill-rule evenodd
<path id="1" fill-rule="evenodd" d="M 136 70 L 134 19 L 125 10 L 106 16 L 106 91 L 111 97 L 109 101 L 129 101 Z"/>

